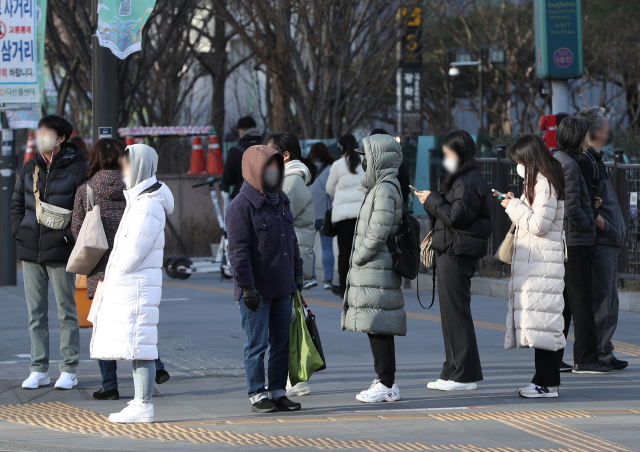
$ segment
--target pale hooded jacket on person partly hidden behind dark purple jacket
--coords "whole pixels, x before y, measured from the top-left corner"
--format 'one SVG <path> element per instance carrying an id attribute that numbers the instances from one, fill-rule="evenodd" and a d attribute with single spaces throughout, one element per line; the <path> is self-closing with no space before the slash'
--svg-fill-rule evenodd
<path id="1" fill-rule="evenodd" d="M 311 190 L 307 186 L 310 182 L 311 173 L 307 165 L 300 160 L 285 164 L 282 190 L 291 200 L 293 227 L 300 246 L 305 279 L 313 278 L 313 245 L 316 239 L 316 211 Z"/>

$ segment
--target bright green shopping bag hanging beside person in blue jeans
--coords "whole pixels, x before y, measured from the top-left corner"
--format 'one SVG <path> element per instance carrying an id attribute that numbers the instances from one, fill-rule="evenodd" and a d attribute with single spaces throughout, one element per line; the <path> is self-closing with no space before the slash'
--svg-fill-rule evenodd
<path id="1" fill-rule="evenodd" d="M 289 380 L 295 386 L 301 381 L 309 381 L 311 375 L 324 365 L 324 361 L 313 345 L 307 329 L 300 292 L 296 292 L 291 301 L 296 311 L 296 320 L 289 325 Z"/>

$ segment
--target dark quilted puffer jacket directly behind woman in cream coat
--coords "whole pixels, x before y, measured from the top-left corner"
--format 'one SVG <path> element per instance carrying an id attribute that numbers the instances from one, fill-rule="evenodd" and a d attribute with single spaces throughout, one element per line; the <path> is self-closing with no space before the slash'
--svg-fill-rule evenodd
<path id="1" fill-rule="evenodd" d="M 567 246 L 591 246 L 596 240 L 596 224 L 587 183 L 575 158 L 566 152 L 553 155 L 564 170 L 564 231 Z"/>

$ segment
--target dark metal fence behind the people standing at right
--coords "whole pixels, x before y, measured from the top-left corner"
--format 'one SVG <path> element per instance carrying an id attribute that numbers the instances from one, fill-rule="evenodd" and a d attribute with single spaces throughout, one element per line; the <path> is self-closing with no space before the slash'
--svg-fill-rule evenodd
<path id="1" fill-rule="evenodd" d="M 516 172 L 516 164 L 506 157 L 505 146 L 496 147 L 497 157 L 476 158 L 478 161 L 478 171 L 484 176 L 491 188 L 514 195 L 522 194 L 523 179 Z M 431 190 L 438 190 L 446 178 L 446 173 L 442 169 L 442 154 L 435 149 L 430 153 L 430 181 Z M 627 234 L 618 257 L 618 277 L 621 279 L 640 279 L 640 219 L 638 218 L 637 206 L 632 212 L 630 199 L 632 193 L 640 193 L 640 164 L 626 164 L 624 162 L 624 151 L 616 149 L 613 151 L 613 161 L 606 162 L 609 180 L 620 203 L 620 209 L 625 219 Z M 637 198 L 636 198 L 637 199 Z M 632 217 L 632 213 L 634 216 Z M 505 213 L 499 202 L 491 205 L 492 234 L 489 239 L 489 250 L 487 258 L 492 259 L 495 250 L 504 239 L 511 220 Z"/>

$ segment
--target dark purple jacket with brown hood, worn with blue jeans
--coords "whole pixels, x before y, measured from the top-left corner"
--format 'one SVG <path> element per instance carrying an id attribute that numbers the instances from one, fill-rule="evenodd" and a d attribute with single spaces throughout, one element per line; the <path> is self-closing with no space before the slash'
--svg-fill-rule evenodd
<path id="1" fill-rule="evenodd" d="M 284 172 L 283 157 L 275 149 L 264 145 L 247 149 L 242 159 L 244 183 L 227 210 L 236 301 L 242 298 L 242 288 L 251 284 L 266 298 L 293 294 L 295 277 L 302 275 L 289 198 L 281 193 L 274 205 L 264 194 L 262 177 L 272 159 Z"/>

